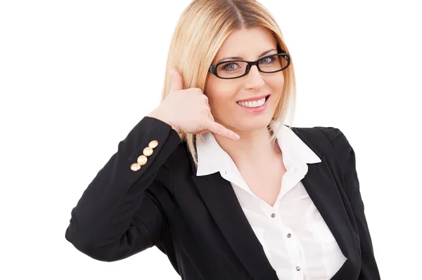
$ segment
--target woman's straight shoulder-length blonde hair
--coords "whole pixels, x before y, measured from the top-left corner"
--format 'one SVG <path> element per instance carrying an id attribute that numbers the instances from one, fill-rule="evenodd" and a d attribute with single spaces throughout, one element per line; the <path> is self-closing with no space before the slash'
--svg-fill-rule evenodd
<path id="1" fill-rule="evenodd" d="M 179 71 L 183 78 L 183 88 L 200 88 L 204 91 L 207 72 L 212 60 L 222 46 L 224 40 L 239 29 L 264 27 L 275 37 L 279 51 L 288 52 L 283 35 L 267 8 L 255 0 L 193 0 L 177 22 L 170 50 L 167 57 L 166 74 L 161 101 L 164 100 L 172 85 L 170 69 Z M 272 120 L 286 120 L 290 108 L 294 114 L 296 85 L 293 61 L 283 70 L 284 86 L 279 105 Z M 276 133 L 267 126 L 274 142 Z M 181 140 L 186 141 L 193 161 L 198 166 L 196 142 L 202 135 L 179 133 Z"/>

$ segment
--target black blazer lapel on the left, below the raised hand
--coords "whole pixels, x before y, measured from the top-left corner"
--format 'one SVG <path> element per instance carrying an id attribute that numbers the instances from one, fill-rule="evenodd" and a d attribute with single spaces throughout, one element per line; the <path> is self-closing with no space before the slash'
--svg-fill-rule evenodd
<path id="1" fill-rule="evenodd" d="M 252 279 L 278 280 L 230 182 L 224 180 L 218 172 L 204 176 L 192 175 L 192 179 L 212 218 Z"/>

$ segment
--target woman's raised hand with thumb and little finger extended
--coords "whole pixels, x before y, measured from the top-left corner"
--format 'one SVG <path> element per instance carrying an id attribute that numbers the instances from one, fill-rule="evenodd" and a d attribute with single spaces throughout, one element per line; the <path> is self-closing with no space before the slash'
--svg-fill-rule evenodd
<path id="1" fill-rule="evenodd" d="M 211 131 L 232 140 L 240 138 L 233 131 L 214 121 L 208 98 L 200 88 L 184 90 L 181 74 L 174 70 L 171 76 L 170 93 L 148 116 L 165 121 L 178 133 L 201 134 Z"/>

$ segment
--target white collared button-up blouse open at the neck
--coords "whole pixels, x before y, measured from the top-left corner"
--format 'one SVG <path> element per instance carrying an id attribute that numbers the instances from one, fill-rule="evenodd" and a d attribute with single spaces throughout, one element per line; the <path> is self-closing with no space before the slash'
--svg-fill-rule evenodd
<path id="1" fill-rule="evenodd" d="M 290 128 L 274 121 L 270 125 L 277 131 L 286 167 L 274 206 L 253 194 L 234 161 L 210 132 L 197 143 L 196 175 L 219 171 L 231 182 L 243 212 L 280 280 L 331 279 L 346 258 L 301 182 L 307 173 L 307 164 L 321 162 L 321 159 Z"/>

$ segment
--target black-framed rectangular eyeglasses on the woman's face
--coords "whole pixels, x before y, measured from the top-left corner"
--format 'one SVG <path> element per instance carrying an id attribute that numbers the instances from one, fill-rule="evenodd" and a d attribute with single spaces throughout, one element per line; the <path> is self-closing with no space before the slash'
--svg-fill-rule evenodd
<path id="1" fill-rule="evenodd" d="M 290 65 L 290 55 L 288 53 L 277 53 L 255 61 L 223 61 L 216 65 L 211 65 L 209 72 L 220 79 L 236 79 L 247 75 L 252 65 L 257 65 L 258 70 L 262 73 L 280 72 Z"/>

